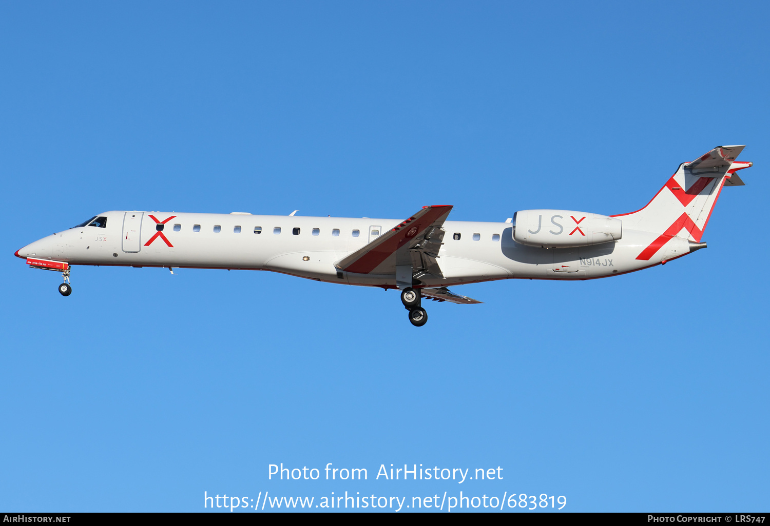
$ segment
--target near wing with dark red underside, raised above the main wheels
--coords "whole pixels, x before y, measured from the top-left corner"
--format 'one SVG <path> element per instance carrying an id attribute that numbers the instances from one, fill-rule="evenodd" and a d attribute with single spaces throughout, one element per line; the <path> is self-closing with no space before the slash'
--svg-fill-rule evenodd
<path id="1" fill-rule="evenodd" d="M 444 278 L 436 261 L 444 239 L 444 221 L 451 205 L 423 206 L 368 245 L 337 261 L 342 271 L 356 274 L 395 274 L 396 265 L 411 265 L 420 272 Z"/>

